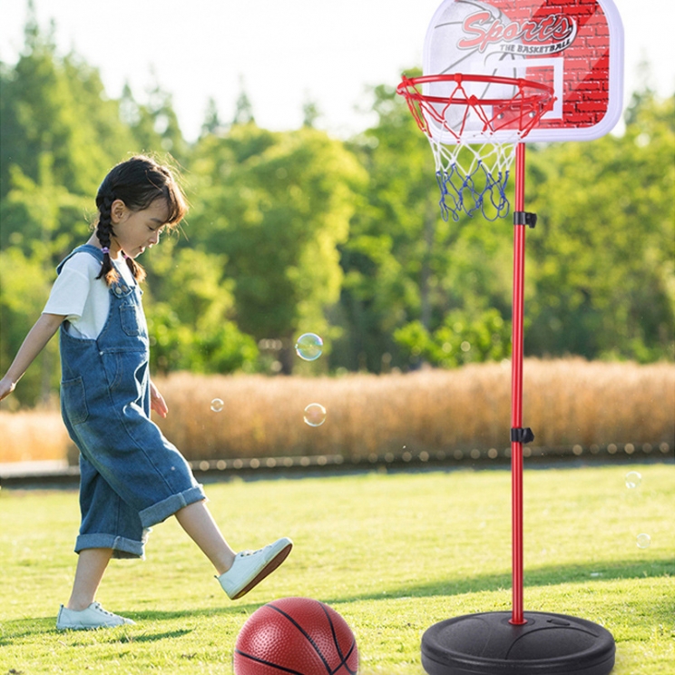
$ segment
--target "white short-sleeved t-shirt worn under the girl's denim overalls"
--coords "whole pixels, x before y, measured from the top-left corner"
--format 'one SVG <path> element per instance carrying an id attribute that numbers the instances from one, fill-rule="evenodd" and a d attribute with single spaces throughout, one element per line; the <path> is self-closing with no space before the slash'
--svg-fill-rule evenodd
<path id="1" fill-rule="evenodd" d="M 115 265 L 129 286 L 135 281 L 131 269 L 122 262 Z M 90 253 L 79 251 L 66 260 L 54 281 L 43 314 L 63 315 L 69 322 L 66 330 L 73 337 L 96 339 L 103 330 L 110 311 L 110 291 L 104 279 L 96 279 L 101 263 Z"/>

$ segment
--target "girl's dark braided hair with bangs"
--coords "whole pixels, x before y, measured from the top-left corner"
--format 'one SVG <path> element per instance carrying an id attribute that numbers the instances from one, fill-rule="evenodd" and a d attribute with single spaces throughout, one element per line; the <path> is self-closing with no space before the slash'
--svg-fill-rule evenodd
<path id="1" fill-rule="evenodd" d="M 150 157 L 137 155 L 130 160 L 122 161 L 103 179 L 96 194 L 98 222 L 95 226 L 96 236 L 103 248 L 103 268 L 96 279 L 105 279 L 110 286 L 119 277 L 112 266 L 110 254 L 112 230 L 112 202 L 121 200 L 133 211 L 147 209 L 153 201 L 164 198 L 169 207 L 168 226 L 177 226 L 188 210 L 185 196 L 175 181 L 171 171 Z M 123 254 L 123 251 L 122 251 Z M 124 255 L 126 264 L 132 270 L 137 281 L 145 279 L 145 270 L 134 259 Z"/>

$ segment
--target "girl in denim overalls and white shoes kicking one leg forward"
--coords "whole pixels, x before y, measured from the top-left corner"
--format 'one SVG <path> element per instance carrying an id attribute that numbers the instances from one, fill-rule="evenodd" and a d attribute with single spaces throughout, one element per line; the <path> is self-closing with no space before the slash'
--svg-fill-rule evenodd
<path id="1" fill-rule="evenodd" d="M 61 409 L 80 450 L 82 523 L 73 592 L 56 627 L 133 623 L 94 602 L 111 558 L 143 558 L 150 527 L 175 515 L 206 554 L 231 599 L 240 598 L 290 553 L 284 537 L 236 553 L 223 539 L 190 466 L 152 423 L 168 408 L 148 373 L 148 334 L 135 259 L 187 210 L 166 167 L 148 157 L 123 161 L 105 177 L 92 237 L 58 266 L 44 312 L 0 380 L 0 400 L 60 328 Z"/>

